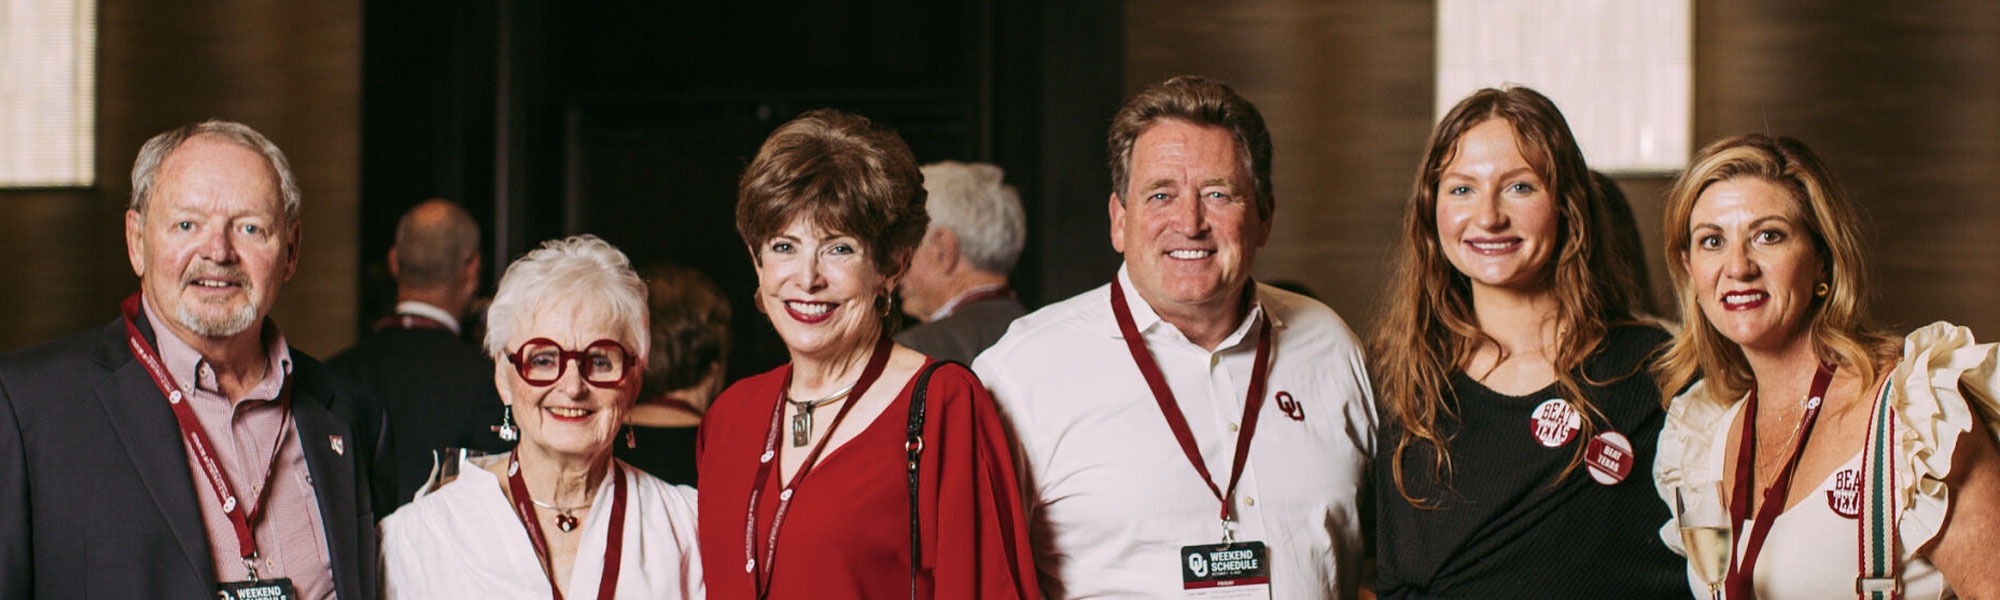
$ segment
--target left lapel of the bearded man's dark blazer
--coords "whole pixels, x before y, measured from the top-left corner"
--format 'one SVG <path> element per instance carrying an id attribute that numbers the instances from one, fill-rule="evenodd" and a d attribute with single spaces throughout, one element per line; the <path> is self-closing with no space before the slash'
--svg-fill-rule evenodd
<path id="1" fill-rule="evenodd" d="M 146 368 L 126 346 L 124 318 L 106 328 L 98 364 L 110 370 L 110 378 L 96 386 L 98 404 L 104 406 L 118 444 L 132 456 L 138 478 L 146 482 L 146 492 L 166 516 L 166 528 L 180 542 L 180 552 L 188 568 L 196 572 L 208 588 L 216 582 L 216 562 L 208 554 L 208 526 L 202 522 L 202 508 L 194 494 L 194 474 L 188 470 L 188 448 L 180 442 L 180 426 L 174 410 L 166 406 L 166 396 L 152 382 Z M 140 330 L 148 332 L 140 322 Z"/>

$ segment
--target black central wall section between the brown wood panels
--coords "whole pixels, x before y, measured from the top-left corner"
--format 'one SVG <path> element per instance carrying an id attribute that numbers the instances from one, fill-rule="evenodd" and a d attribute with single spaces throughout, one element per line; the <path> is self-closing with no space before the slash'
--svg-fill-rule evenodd
<path id="1" fill-rule="evenodd" d="M 1068 260 L 1066 216 L 1076 190 L 1102 214 L 1118 16 L 990 0 L 372 4 L 362 310 L 392 304 L 398 214 L 446 196 L 494 234 L 492 274 L 582 232 L 638 264 L 702 268 L 736 304 L 730 370 L 766 370 L 784 348 L 750 306 L 736 178 L 772 128 L 820 106 L 896 128 L 920 162 L 1006 168 L 1032 216 L 1018 288 L 1068 296 L 1116 266 Z"/>

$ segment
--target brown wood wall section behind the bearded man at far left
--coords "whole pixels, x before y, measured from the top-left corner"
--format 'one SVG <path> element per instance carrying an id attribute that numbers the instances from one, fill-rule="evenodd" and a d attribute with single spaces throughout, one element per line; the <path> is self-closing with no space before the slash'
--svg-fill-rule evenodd
<path id="1" fill-rule="evenodd" d="M 96 180 L 0 190 L 0 350 L 108 322 L 138 290 L 126 260 L 132 158 L 168 128 L 226 118 L 272 138 L 304 192 L 286 338 L 326 356 L 354 340 L 360 8 L 346 2 L 98 2 Z"/>

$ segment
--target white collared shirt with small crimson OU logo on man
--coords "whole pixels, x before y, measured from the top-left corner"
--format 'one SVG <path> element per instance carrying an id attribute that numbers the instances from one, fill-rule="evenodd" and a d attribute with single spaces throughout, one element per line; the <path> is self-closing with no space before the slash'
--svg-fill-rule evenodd
<path id="1" fill-rule="evenodd" d="M 1232 498 L 1236 540 L 1270 548 L 1274 598 L 1352 598 L 1376 430 L 1354 332 L 1320 302 L 1258 286 L 1248 318 L 1210 352 L 1160 320 L 1124 268 L 1118 280 L 1218 488 L 1236 452 L 1254 326 L 1272 320 L 1266 402 Z M 972 368 L 1016 436 L 1042 590 L 1180 596 L 1178 552 L 1222 540 L 1220 504 L 1132 362 L 1110 286 L 1016 320 Z"/>

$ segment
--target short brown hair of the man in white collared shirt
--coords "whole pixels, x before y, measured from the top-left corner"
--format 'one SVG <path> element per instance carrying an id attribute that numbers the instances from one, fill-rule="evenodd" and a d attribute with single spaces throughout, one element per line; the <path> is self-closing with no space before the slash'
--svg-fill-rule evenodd
<path id="1" fill-rule="evenodd" d="M 1162 120 L 1228 130 L 1242 150 L 1244 172 L 1256 184 L 1256 212 L 1260 218 L 1270 218 L 1278 200 L 1270 190 L 1270 130 L 1264 128 L 1264 114 L 1228 84 L 1204 76 L 1178 76 L 1152 84 L 1128 98 L 1112 116 L 1106 158 L 1112 168 L 1112 194 L 1118 194 L 1118 202 L 1124 202 L 1126 186 L 1132 180 L 1132 144 Z"/>

